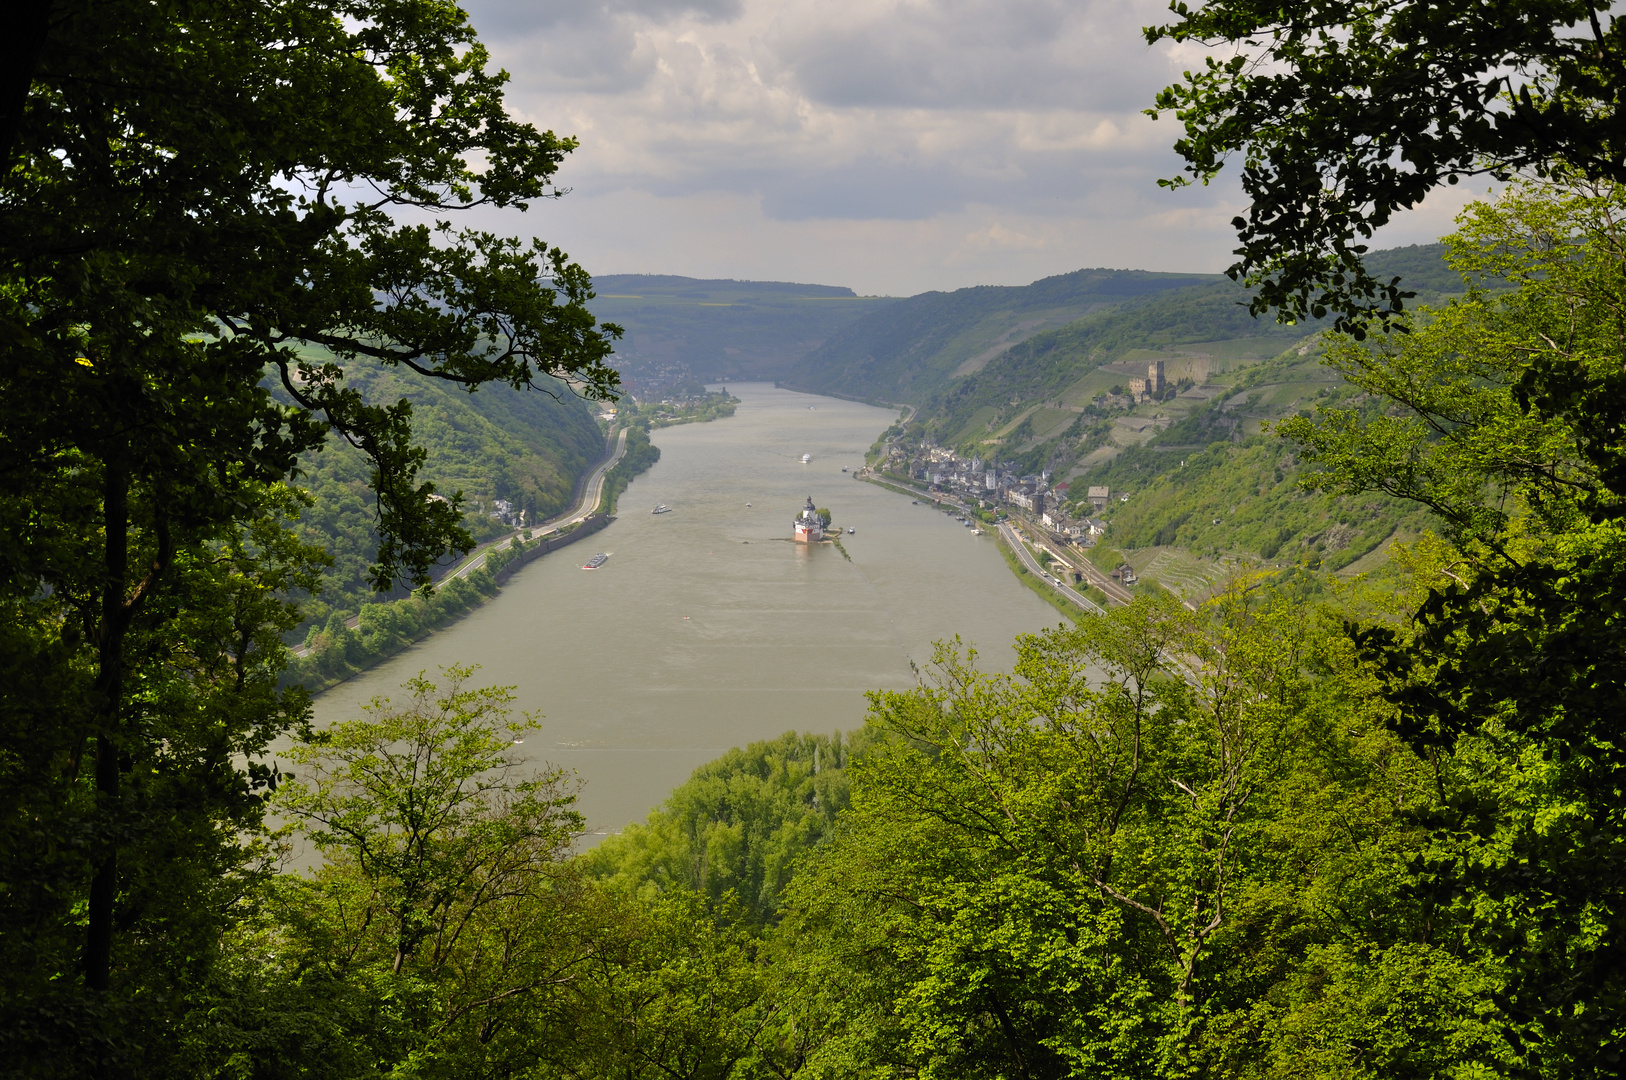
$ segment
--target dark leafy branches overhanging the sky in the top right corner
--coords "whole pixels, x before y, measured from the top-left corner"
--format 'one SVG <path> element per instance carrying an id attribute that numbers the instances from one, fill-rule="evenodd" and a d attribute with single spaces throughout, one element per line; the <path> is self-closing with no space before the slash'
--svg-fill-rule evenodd
<path id="1" fill-rule="evenodd" d="M 1148 42 L 1221 55 L 1158 94 L 1151 115 L 1185 125 L 1176 150 L 1197 181 L 1242 156 L 1250 205 L 1228 273 L 1257 286 L 1254 314 L 1333 312 L 1356 337 L 1400 314 L 1408 293 L 1367 273 L 1364 241 L 1439 184 L 1556 168 L 1626 181 L 1626 31 L 1595 3 L 1169 8 L 1177 21 L 1148 28 Z"/>

